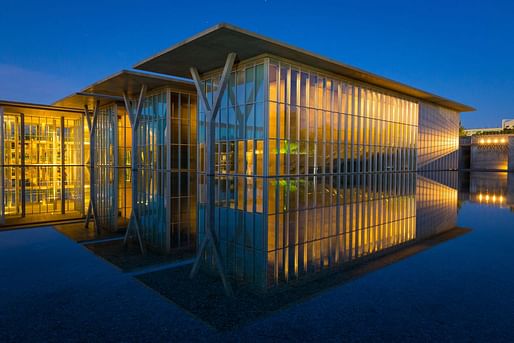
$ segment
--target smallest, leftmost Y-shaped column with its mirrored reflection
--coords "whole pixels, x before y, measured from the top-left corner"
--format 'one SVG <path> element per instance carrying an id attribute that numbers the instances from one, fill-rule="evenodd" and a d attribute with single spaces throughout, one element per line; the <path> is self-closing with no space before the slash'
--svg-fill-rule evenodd
<path id="1" fill-rule="evenodd" d="M 100 227 L 98 226 L 98 216 L 96 210 L 96 201 L 95 201 L 95 138 L 96 138 L 96 125 L 98 122 L 98 110 L 100 107 L 100 101 L 97 100 L 95 103 L 95 108 L 93 109 L 93 118 L 89 114 L 89 109 L 87 105 L 84 106 L 84 114 L 87 119 L 87 126 L 89 128 L 89 206 L 87 209 L 86 215 L 86 227 L 89 226 L 89 220 L 91 216 L 95 221 L 95 230 L 98 233 L 100 231 Z"/>

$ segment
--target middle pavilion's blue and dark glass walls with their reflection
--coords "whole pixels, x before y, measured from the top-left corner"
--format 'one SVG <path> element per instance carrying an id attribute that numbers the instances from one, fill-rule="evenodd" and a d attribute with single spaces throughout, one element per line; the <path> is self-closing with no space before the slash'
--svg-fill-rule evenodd
<path id="1" fill-rule="evenodd" d="M 143 238 L 162 252 L 196 238 L 196 96 L 161 90 L 146 97 L 137 130 L 137 209 Z"/>

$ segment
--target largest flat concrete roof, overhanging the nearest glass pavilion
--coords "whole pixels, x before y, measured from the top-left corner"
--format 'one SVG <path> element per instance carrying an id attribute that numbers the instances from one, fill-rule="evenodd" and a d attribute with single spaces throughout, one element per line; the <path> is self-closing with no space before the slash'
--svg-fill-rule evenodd
<path id="1" fill-rule="evenodd" d="M 475 110 L 473 107 L 224 23 L 175 44 L 136 64 L 134 68 L 190 78 L 190 67 L 196 67 L 200 74 L 221 68 L 230 52 L 237 53 L 236 61 L 262 54 L 271 54 L 432 102 L 455 111 Z"/>

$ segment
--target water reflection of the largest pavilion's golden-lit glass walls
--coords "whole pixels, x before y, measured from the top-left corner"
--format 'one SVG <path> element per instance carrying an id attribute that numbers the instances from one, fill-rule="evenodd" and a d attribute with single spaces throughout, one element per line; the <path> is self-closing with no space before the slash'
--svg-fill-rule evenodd
<path id="1" fill-rule="evenodd" d="M 218 180 L 224 191 L 235 193 L 226 198 L 249 198 L 239 191 L 240 183 L 256 194 L 250 208 L 239 208 L 237 201 L 218 204 L 226 273 L 250 288 L 267 290 L 452 229 L 457 220 L 457 176 L 371 173 L 252 178 L 251 184 L 236 177 L 230 186 L 225 184 L 229 181 Z M 206 256 L 211 261 L 211 254 Z M 212 261 L 205 265 L 215 270 Z"/>

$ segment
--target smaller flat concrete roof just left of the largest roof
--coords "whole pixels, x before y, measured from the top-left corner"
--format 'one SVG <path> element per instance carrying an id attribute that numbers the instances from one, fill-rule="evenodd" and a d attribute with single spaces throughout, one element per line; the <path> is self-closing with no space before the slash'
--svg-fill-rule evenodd
<path id="1" fill-rule="evenodd" d="M 84 105 L 93 106 L 96 100 L 101 104 L 122 100 L 124 92 L 128 95 L 138 94 L 142 85 L 146 85 L 148 90 L 161 87 L 170 87 L 180 91 L 195 90 L 193 83 L 164 75 L 155 75 L 131 70 L 122 70 L 101 81 L 84 88 L 82 91 L 67 96 L 56 101 L 55 105 L 83 108 Z"/>

